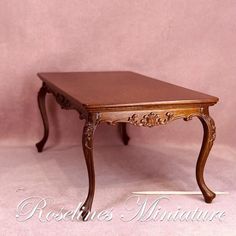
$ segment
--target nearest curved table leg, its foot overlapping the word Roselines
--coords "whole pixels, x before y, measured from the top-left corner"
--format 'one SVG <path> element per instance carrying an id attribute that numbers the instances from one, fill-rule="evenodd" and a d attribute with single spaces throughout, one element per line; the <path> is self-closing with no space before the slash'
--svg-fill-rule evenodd
<path id="1" fill-rule="evenodd" d="M 83 210 L 82 218 L 84 221 L 86 220 L 86 216 L 88 215 L 88 213 L 91 211 L 95 192 L 95 173 L 93 164 L 93 134 L 95 129 L 96 129 L 95 123 L 86 121 L 83 129 L 82 144 L 83 144 L 85 162 L 88 170 L 89 190 L 88 190 L 88 196 L 83 206 L 81 207 L 81 210 Z"/>

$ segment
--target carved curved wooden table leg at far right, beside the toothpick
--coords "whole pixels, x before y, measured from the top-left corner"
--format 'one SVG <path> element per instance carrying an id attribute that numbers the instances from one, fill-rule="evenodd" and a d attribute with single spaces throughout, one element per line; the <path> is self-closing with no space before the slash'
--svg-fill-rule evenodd
<path id="1" fill-rule="evenodd" d="M 203 172 L 204 172 L 206 160 L 208 158 L 209 152 L 215 140 L 216 128 L 215 128 L 214 120 L 208 114 L 201 115 L 198 118 L 202 122 L 203 129 L 204 129 L 204 136 L 203 136 L 203 142 L 202 142 L 200 154 L 197 160 L 196 178 L 197 178 L 198 186 L 201 189 L 202 194 L 204 196 L 205 202 L 211 203 L 212 200 L 215 198 L 216 194 L 212 192 L 205 184 Z"/>

